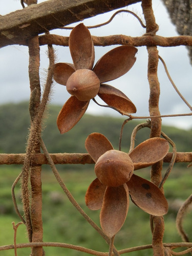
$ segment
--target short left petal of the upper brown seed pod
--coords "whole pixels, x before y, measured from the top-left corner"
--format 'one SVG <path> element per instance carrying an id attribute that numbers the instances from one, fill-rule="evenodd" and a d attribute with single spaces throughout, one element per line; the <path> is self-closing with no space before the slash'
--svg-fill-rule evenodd
<path id="1" fill-rule="evenodd" d="M 53 78 L 56 82 L 66 86 L 67 80 L 75 72 L 73 64 L 70 63 L 56 63 L 54 67 Z"/>

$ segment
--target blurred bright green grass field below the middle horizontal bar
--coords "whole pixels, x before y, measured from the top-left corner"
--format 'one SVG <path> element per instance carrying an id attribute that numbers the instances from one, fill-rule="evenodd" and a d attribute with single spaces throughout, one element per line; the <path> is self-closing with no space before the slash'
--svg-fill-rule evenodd
<path id="1" fill-rule="evenodd" d="M 11 185 L 20 173 L 21 166 L 0 166 L 0 245 L 13 244 L 12 222 L 19 222 L 11 198 Z M 59 166 L 60 175 L 65 181 L 74 198 L 87 214 L 99 225 L 99 211 L 89 210 L 84 203 L 86 190 L 95 178 L 94 166 Z M 76 170 L 75 170 L 76 169 Z M 146 179 L 150 179 L 150 170 L 136 171 Z M 176 167 L 164 185 L 165 196 L 169 203 L 168 214 L 164 217 L 165 234 L 164 242 L 181 242 L 176 230 L 175 219 L 178 207 L 191 194 L 191 169 Z M 22 212 L 20 201 L 20 184 L 16 186 L 15 195 L 18 208 Z M 108 251 L 109 246 L 100 235 L 84 220 L 74 206 L 69 202 L 62 189 L 59 187 L 51 169 L 42 170 L 42 219 L 44 223 L 44 242 L 63 242 L 84 246 L 98 251 Z M 184 227 L 189 238 L 192 239 L 191 212 L 186 215 Z M 126 221 L 116 235 L 115 246 L 117 249 L 151 244 L 152 234 L 149 215 L 130 202 Z M 25 225 L 20 225 L 17 231 L 17 243 L 27 242 Z M 88 255 L 87 253 L 46 247 L 46 256 L 51 255 Z M 30 249 L 18 249 L 19 256 L 29 255 Z M 0 251 L 0 255 L 14 255 L 13 250 Z M 151 249 L 131 252 L 129 255 L 153 255 Z"/>

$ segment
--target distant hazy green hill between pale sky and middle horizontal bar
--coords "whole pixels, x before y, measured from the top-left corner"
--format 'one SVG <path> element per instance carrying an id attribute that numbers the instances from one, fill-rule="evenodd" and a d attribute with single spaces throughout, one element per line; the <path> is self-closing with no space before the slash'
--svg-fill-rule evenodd
<path id="1" fill-rule="evenodd" d="M 71 131 L 61 135 L 56 125 L 60 109 L 59 105 L 50 105 L 44 121 L 42 136 L 50 153 L 86 152 L 84 141 L 93 132 L 104 134 L 118 149 L 120 129 L 123 120 L 126 119 L 125 116 L 114 118 L 84 115 Z M 0 120 L 0 153 L 24 153 L 30 127 L 28 102 L 0 105 Z M 124 127 L 122 150 L 125 152 L 129 151 L 130 136 L 138 123 L 138 121 L 130 121 Z M 191 130 L 183 131 L 170 126 L 163 126 L 162 130 L 176 143 L 178 151 L 191 151 Z M 147 139 L 149 134 L 148 128 L 140 130 L 136 137 L 136 144 Z"/>

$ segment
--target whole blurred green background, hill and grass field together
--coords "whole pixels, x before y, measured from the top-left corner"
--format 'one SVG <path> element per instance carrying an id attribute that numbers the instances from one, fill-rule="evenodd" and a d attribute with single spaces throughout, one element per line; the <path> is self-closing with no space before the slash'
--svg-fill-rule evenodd
<path id="1" fill-rule="evenodd" d="M 78 124 L 67 134 L 60 135 L 56 126 L 56 118 L 61 106 L 51 105 L 47 111 L 42 136 L 50 153 L 86 153 L 84 141 L 92 132 L 104 134 L 118 149 L 119 133 L 124 118 L 95 117 L 84 115 Z M 29 116 L 28 103 L 6 104 L 0 106 L 0 153 L 25 153 L 28 135 Z M 141 121 L 144 122 L 144 121 Z M 122 151 L 128 152 L 130 136 L 138 122 L 130 121 L 123 130 Z M 192 131 L 183 131 L 175 127 L 163 126 L 166 133 L 177 145 L 178 151 L 191 151 Z M 149 136 L 150 130 L 145 128 L 138 132 L 136 145 Z M 172 148 L 170 148 L 172 151 Z M 163 173 L 168 164 L 164 164 Z M 175 164 L 165 185 L 164 193 L 169 204 L 168 214 L 164 217 L 164 242 L 181 242 L 175 220 L 177 211 L 191 194 L 191 168 L 187 163 Z M 99 211 L 89 210 L 84 203 L 86 190 L 95 179 L 94 165 L 57 165 L 62 180 L 66 183 L 74 198 L 87 214 L 99 224 Z M 19 222 L 11 198 L 11 186 L 22 170 L 21 165 L 0 166 L 0 246 L 13 244 L 12 222 Z M 137 175 L 150 180 L 150 168 L 136 171 Z M 20 183 L 15 189 L 16 200 L 20 212 Z M 84 220 L 69 202 L 57 183 L 51 168 L 42 166 L 42 219 L 44 223 L 44 242 L 63 242 L 84 246 L 98 251 L 108 251 L 109 246 L 100 235 Z M 184 228 L 192 240 L 191 209 L 184 219 Z M 122 229 L 117 233 L 115 246 L 117 249 L 151 244 L 152 234 L 150 216 L 130 201 L 130 208 Z M 24 225 L 17 231 L 17 243 L 27 242 Z M 46 255 L 88 255 L 70 249 L 45 247 Z M 19 256 L 29 255 L 30 249 L 17 249 Z M 0 251 L 0 255 L 14 255 L 13 250 Z M 126 255 L 126 254 L 124 254 Z M 131 252 L 129 255 L 153 255 L 151 249 Z M 187 254 L 186 254 L 187 255 Z"/>

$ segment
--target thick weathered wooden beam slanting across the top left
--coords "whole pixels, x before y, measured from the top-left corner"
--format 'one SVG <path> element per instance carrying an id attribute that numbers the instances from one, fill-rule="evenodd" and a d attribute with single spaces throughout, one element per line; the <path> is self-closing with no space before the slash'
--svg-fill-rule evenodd
<path id="1" fill-rule="evenodd" d="M 50 0 L 0 16 L 0 48 L 139 0 Z"/>

